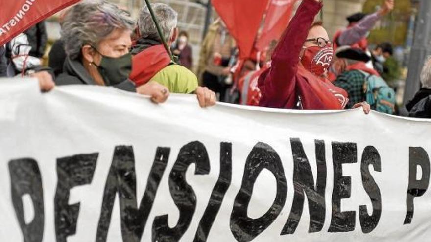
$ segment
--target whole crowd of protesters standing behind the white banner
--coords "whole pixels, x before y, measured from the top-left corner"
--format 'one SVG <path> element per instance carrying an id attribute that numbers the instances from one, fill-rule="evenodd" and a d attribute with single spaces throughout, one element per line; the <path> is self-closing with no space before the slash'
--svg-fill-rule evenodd
<path id="1" fill-rule="evenodd" d="M 151 96 L 156 103 L 169 93 L 197 95 L 202 107 L 216 101 L 284 109 L 340 110 L 363 107 L 398 114 L 395 100 L 399 65 L 390 43 L 370 49 L 367 35 L 391 13 L 385 0 L 373 14 L 356 13 L 335 36 L 316 21 L 324 1 L 303 0 L 278 39 L 264 51 L 240 54 L 241 40 L 222 18 L 209 26 L 192 72 L 189 35 L 177 26 L 178 13 L 153 3 L 157 26 L 148 7 L 138 19 L 105 1 L 84 1 L 64 10 L 62 32 L 49 53 L 44 22 L 19 34 L 0 49 L 0 76 L 30 75 L 42 91 L 63 85 L 112 86 Z M 158 31 L 160 26 L 160 32 Z M 262 49 L 262 48 L 261 48 Z M 422 89 L 406 108 L 411 117 L 429 118 L 430 61 L 421 74 Z"/>

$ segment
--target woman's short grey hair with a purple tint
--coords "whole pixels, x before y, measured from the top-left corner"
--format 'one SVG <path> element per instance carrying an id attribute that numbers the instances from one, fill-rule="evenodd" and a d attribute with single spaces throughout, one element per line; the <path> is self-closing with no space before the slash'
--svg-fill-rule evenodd
<path id="1" fill-rule="evenodd" d="M 133 30 L 136 24 L 127 11 L 106 1 L 87 0 L 66 14 L 61 31 L 66 54 L 72 60 L 81 58 L 82 46 L 98 47 L 115 29 Z"/>

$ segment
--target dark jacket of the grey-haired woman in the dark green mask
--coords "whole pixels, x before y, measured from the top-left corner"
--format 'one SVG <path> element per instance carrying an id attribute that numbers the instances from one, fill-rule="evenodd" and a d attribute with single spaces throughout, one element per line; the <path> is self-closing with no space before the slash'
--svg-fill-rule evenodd
<path id="1" fill-rule="evenodd" d="M 96 85 L 96 82 L 79 61 L 66 58 L 63 73 L 55 79 L 55 84 L 62 85 Z M 130 80 L 113 86 L 125 91 L 136 92 L 135 84 Z"/>

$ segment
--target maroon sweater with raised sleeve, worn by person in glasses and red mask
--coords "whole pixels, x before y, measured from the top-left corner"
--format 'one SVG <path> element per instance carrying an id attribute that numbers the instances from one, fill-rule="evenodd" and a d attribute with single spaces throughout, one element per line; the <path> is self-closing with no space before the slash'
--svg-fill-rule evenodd
<path id="1" fill-rule="evenodd" d="M 272 54 L 271 68 L 259 81 L 262 90 L 261 106 L 283 108 L 294 94 L 299 55 L 307 39 L 314 16 L 322 8 L 320 0 L 303 0 L 279 44 Z"/>

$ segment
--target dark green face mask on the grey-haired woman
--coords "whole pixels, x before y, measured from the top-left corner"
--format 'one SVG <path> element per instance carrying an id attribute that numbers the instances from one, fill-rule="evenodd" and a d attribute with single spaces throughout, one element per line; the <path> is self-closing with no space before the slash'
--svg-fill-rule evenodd
<path id="1" fill-rule="evenodd" d="M 96 48 L 94 48 L 96 49 Z M 100 52 L 96 49 L 100 54 Z M 103 77 L 106 86 L 115 86 L 126 81 L 132 72 L 132 54 L 127 53 L 118 58 L 108 57 L 100 54 L 102 61 L 97 70 Z"/>

